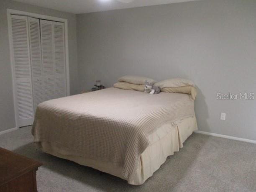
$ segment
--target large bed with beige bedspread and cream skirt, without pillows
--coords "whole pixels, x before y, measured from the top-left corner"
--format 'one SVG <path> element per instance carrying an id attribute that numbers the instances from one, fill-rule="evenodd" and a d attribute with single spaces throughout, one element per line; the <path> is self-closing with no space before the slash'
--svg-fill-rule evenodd
<path id="1" fill-rule="evenodd" d="M 42 151 L 143 184 L 197 130 L 191 95 L 107 88 L 38 105 Z"/>

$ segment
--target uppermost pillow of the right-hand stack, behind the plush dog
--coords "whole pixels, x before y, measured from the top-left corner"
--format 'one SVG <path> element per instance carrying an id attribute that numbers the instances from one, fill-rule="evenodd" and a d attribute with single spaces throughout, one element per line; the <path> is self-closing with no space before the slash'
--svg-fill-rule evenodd
<path id="1" fill-rule="evenodd" d="M 174 79 L 166 79 L 164 81 L 160 81 L 154 84 L 157 87 L 165 88 L 165 87 L 184 87 L 184 86 L 192 86 L 195 87 L 195 83 L 189 79 L 182 78 L 174 78 Z"/>

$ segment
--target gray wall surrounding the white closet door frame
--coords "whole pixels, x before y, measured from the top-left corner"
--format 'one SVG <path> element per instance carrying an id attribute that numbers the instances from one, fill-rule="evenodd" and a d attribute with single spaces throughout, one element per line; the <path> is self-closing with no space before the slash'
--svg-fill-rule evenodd
<path id="1" fill-rule="evenodd" d="M 70 93 L 78 92 L 76 16 L 56 10 L 0 0 L 0 131 L 15 127 L 7 8 L 68 19 Z"/>

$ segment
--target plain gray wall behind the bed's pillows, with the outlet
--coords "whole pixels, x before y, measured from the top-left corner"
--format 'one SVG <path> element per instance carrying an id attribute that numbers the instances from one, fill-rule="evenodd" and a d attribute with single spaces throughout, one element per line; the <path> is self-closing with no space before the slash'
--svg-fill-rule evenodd
<path id="1" fill-rule="evenodd" d="M 96 79 L 109 87 L 125 74 L 192 79 L 201 131 L 256 140 L 256 99 L 216 99 L 217 92 L 256 91 L 255 0 L 79 14 L 77 26 L 80 90 Z"/>

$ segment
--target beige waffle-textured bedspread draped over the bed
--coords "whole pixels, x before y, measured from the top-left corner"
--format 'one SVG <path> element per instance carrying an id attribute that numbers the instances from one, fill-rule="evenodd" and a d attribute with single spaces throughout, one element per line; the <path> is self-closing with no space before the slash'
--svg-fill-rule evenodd
<path id="1" fill-rule="evenodd" d="M 58 143 L 76 156 L 111 161 L 130 180 L 149 144 L 148 135 L 193 116 L 190 95 L 112 87 L 39 104 L 32 134 L 35 142 Z"/>

